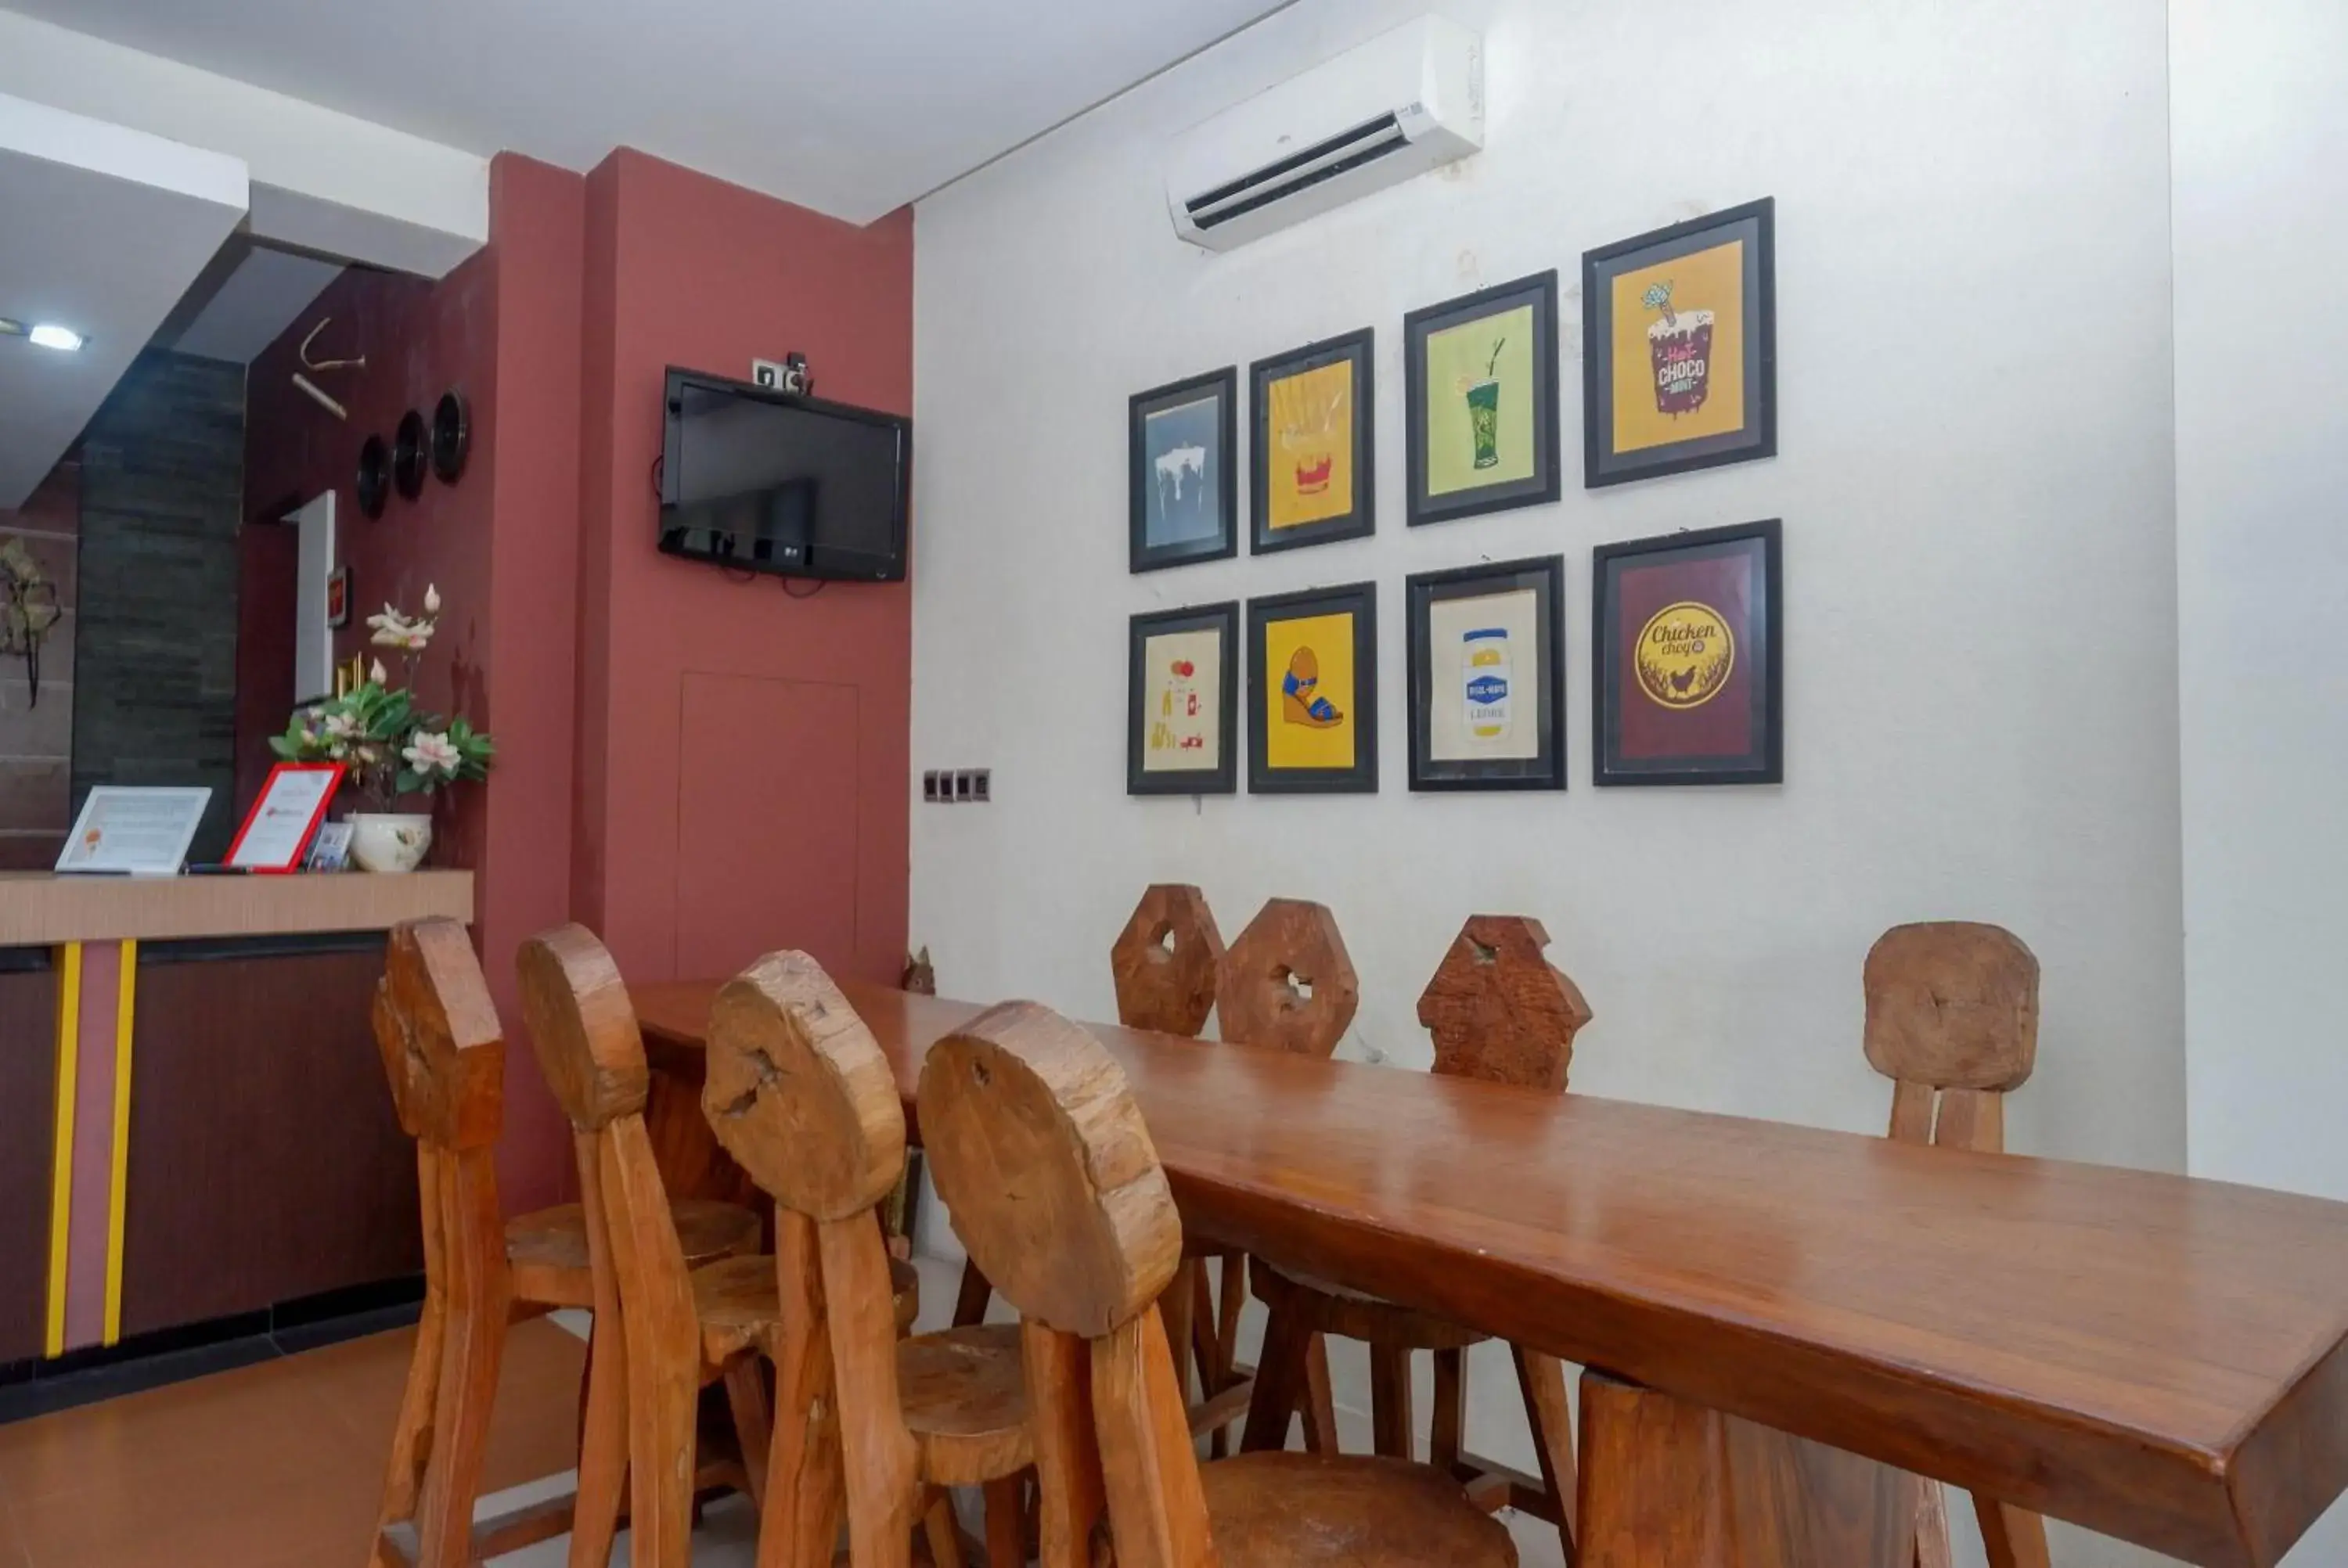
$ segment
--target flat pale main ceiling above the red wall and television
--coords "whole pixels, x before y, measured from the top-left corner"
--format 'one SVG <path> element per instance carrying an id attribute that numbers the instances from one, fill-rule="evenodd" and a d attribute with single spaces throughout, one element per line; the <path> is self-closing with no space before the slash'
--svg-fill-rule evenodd
<path id="1" fill-rule="evenodd" d="M 0 0 L 470 153 L 869 223 L 1289 0 Z"/>

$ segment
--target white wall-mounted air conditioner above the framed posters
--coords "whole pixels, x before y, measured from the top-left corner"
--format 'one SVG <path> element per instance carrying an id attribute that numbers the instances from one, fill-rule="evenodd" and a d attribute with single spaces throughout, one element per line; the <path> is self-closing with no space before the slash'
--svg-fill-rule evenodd
<path id="1" fill-rule="evenodd" d="M 1174 232 L 1228 251 L 1484 146 L 1484 40 L 1423 16 L 1183 131 Z"/>

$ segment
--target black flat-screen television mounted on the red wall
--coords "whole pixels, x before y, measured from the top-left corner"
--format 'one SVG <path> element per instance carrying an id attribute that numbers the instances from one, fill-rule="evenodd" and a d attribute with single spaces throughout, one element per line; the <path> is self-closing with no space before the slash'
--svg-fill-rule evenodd
<path id="1" fill-rule="evenodd" d="M 784 577 L 904 580 L 913 420 L 669 369 L 660 549 Z"/>

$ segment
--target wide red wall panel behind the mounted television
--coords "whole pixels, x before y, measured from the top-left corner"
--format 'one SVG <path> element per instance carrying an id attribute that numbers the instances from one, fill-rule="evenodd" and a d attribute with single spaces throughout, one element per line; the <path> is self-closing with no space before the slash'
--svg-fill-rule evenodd
<path id="1" fill-rule="evenodd" d="M 895 979 L 911 594 L 662 556 L 653 460 L 669 364 L 801 350 L 824 397 L 911 413 L 913 214 L 855 228 L 620 150 L 587 176 L 585 279 L 573 908 L 629 979 L 780 946 Z"/>

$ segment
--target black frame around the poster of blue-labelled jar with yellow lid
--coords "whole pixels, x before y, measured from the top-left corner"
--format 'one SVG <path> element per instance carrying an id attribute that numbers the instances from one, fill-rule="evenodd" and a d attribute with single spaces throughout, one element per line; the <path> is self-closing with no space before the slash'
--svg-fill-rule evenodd
<path id="1" fill-rule="evenodd" d="M 1531 758 L 1435 758 L 1435 606 L 1449 599 L 1533 592 L 1531 664 L 1540 671 L 1531 721 Z M 1566 559 L 1529 556 L 1416 573 L 1404 580 L 1411 678 L 1411 789 L 1564 789 L 1566 786 Z M 1514 655 L 1510 655 L 1514 664 Z"/>

